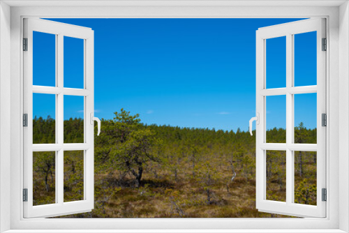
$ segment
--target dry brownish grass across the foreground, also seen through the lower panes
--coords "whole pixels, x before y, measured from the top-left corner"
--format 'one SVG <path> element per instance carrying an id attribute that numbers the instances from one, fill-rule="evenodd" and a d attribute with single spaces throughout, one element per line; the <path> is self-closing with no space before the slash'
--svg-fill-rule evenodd
<path id="1" fill-rule="evenodd" d="M 252 161 L 253 153 L 249 153 Z M 206 185 L 198 174 L 193 174 L 191 165 L 183 161 L 177 171 L 177 179 L 172 170 L 158 167 L 156 174 L 151 169 L 144 170 L 139 188 L 135 188 L 133 177 L 120 179 L 119 172 L 95 175 L 95 209 L 91 213 L 80 213 L 64 218 L 288 218 L 255 209 L 255 165 L 246 172 L 246 165 L 236 162 L 237 176 L 230 181 L 232 171 L 221 164 L 224 158 L 211 159 L 216 165 L 216 179 Z M 252 162 L 254 163 L 254 162 Z M 149 168 L 149 167 L 148 167 Z M 306 179 L 306 185 L 316 184 L 316 164 L 304 156 L 303 174 L 295 164 L 296 189 Z M 37 203 L 53 203 L 54 187 L 47 193 L 40 174 L 34 172 Z M 272 173 L 268 185 L 276 200 L 285 199 L 285 183 L 280 188 L 280 177 Z M 42 177 L 41 177 L 42 178 Z M 207 195 L 209 188 L 209 200 Z M 66 196 L 74 196 L 66 190 Z M 314 204 L 314 197 L 310 204 Z M 316 203 L 316 202 L 315 202 Z"/>

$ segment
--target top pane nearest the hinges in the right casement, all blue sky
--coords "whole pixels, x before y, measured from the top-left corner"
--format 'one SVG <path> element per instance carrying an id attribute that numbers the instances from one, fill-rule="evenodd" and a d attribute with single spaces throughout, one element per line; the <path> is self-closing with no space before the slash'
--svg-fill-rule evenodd
<path id="1" fill-rule="evenodd" d="M 295 34 L 295 87 L 316 85 L 316 31 Z"/>

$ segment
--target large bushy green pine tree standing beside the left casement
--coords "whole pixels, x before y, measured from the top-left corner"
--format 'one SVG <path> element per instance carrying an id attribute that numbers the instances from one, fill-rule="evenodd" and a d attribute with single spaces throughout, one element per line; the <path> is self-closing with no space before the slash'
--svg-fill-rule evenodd
<path id="1" fill-rule="evenodd" d="M 145 163 L 161 162 L 156 153 L 161 140 L 150 128 L 142 127 L 139 114 L 132 116 L 123 109 L 114 114 L 114 121 L 103 121 L 101 136 L 96 138 L 96 144 L 103 145 L 95 148 L 97 163 L 103 163 L 108 172 L 131 174 L 139 187 Z"/>

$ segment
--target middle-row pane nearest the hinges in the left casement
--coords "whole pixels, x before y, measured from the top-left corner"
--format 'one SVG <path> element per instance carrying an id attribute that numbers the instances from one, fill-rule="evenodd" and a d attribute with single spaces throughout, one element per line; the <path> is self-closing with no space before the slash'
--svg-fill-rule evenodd
<path id="1" fill-rule="evenodd" d="M 56 95 L 33 93 L 33 143 L 56 143 Z"/>

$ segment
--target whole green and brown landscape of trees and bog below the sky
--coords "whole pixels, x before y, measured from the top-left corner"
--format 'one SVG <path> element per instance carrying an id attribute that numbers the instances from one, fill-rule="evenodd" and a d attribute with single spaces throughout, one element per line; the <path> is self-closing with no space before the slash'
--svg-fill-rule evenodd
<path id="1" fill-rule="evenodd" d="M 95 205 L 58 218 L 285 218 L 255 209 L 255 137 L 237 129 L 147 125 L 121 109 L 95 133 Z M 33 119 L 33 143 L 55 143 L 55 120 Z M 95 131 L 96 131 L 95 127 Z M 254 134 L 255 135 L 255 134 Z M 285 129 L 267 142 L 285 143 Z M 84 120 L 64 121 L 64 143 L 84 142 Z M 316 128 L 295 127 L 295 143 Z M 285 151 L 266 152 L 267 200 L 285 202 Z M 295 151 L 295 203 L 316 205 L 316 152 Z M 34 205 L 55 202 L 55 151 L 33 152 Z M 84 151 L 64 151 L 64 202 L 84 198 Z"/>

